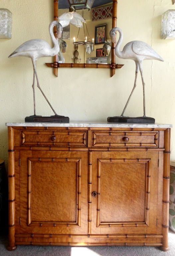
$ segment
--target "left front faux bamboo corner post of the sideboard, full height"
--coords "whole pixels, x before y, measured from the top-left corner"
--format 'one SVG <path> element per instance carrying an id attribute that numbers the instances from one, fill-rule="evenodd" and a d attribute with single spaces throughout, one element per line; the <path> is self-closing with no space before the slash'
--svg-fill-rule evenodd
<path id="1" fill-rule="evenodd" d="M 13 251 L 15 245 L 15 152 L 14 152 L 14 130 L 8 127 L 8 152 L 9 152 L 9 246 L 7 249 Z"/>

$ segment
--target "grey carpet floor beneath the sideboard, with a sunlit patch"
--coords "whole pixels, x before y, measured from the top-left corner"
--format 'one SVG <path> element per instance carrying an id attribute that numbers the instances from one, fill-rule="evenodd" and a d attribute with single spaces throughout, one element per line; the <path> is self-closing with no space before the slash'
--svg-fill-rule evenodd
<path id="1" fill-rule="evenodd" d="M 158 247 L 64 247 L 64 246 L 18 246 L 13 252 L 6 249 L 8 237 L 0 236 L 0 256 L 175 256 L 175 233 L 169 231 L 169 251 Z"/>

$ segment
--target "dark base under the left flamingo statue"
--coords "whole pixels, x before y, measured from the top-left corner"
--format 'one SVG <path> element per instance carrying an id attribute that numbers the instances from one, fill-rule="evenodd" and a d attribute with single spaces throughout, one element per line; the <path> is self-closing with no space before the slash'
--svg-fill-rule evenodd
<path id="1" fill-rule="evenodd" d="M 69 123 L 69 117 L 68 116 L 26 116 L 25 122 L 50 122 L 50 123 Z"/>

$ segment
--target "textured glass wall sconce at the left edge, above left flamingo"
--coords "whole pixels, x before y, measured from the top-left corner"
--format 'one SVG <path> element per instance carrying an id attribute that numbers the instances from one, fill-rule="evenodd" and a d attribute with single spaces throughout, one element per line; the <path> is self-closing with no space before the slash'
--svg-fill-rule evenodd
<path id="1" fill-rule="evenodd" d="M 12 37 L 12 13 L 0 8 L 0 38 Z"/>

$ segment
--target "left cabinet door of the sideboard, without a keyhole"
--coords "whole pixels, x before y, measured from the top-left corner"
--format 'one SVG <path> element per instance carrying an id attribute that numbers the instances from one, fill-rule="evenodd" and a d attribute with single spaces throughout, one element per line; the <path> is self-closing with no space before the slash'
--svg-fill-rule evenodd
<path id="1" fill-rule="evenodd" d="M 86 234 L 87 152 L 21 151 L 20 158 L 23 232 Z"/>

